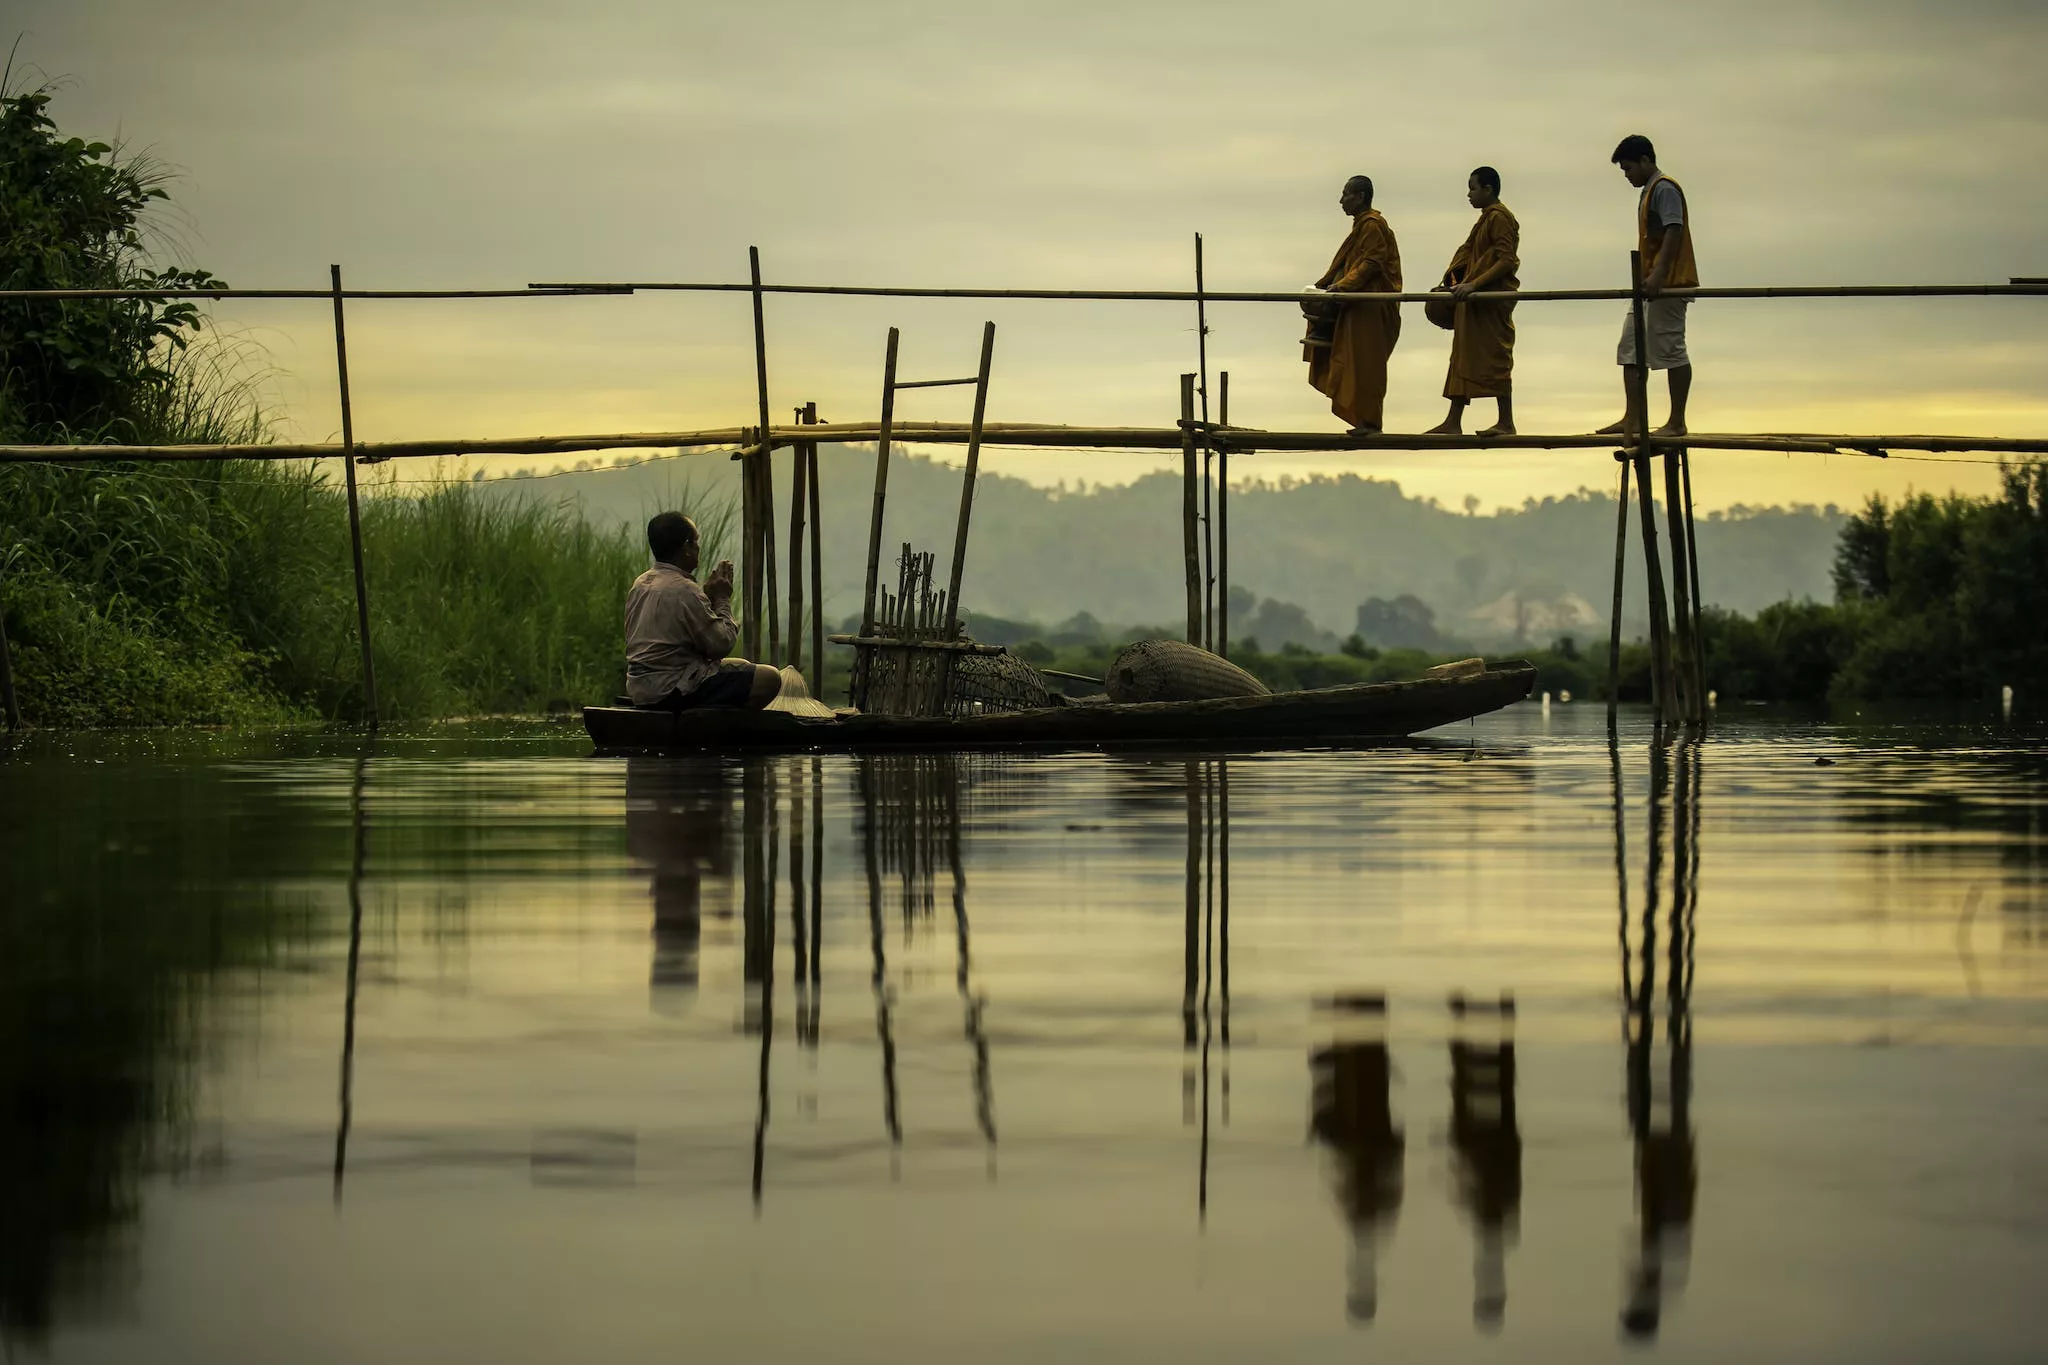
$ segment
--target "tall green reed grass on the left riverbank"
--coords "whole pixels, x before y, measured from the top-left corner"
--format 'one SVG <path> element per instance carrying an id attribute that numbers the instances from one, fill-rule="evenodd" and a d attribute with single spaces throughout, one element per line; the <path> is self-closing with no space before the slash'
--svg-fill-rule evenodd
<path id="1" fill-rule="evenodd" d="M 592 526 L 537 485 L 367 479 L 365 575 L 387 718 L 543 712 L 618 690 L 621 608 L 645 542 L 631 526 Z M 684 481 L 662 501 L 692 510 L 707 553 L 725 553 L 727 503 L 705 505 Z M 360 714 L 338 473 L 260 460 L 10 465 L 0 505 L 0 610 L 31 722 Z"/>

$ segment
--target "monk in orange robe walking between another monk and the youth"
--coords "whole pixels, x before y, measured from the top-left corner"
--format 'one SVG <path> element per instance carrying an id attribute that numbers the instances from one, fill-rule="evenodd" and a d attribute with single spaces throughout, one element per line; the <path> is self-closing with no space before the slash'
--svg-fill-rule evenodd
<path id="1" fill-rule="evenodd" d="M 1464 405 L 1473 399 L 1497 399 L 1501 420 L 1481 436 L 1516 434 L 1513 368 L 1516 368 L 1516 305 L 1491 299 L 1470 299 L 1479 291 L 1522 289 L 1516 276 L 1522 264 L 1522 225 L 1501 203 L 1501 172 L 1481 166 L 1464 182 L 1464 199 L 1479 209 L 1479 221 L 1464 246 L 1450 258 L 1444 284 L 1450 289 L 1454 327 L 1450 336 L 1450 375 L 1444 377 L 1444 397 L 1450 415 L 1430 428 L 1434 436 L 1456 436 L 1464 430 Z"/>

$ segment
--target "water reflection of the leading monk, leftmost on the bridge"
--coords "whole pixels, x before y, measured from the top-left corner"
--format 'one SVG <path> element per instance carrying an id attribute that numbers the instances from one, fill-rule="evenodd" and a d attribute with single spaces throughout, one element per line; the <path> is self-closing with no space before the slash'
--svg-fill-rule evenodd
<path id="1" fill-rule="evenodd" d="M 1337 1207 L 1352 1228 L 1352 1322 L 1378 1314 L 1378 1244 L 1401 1214 L 1405 1138 L 1393 1115 L 1393 1060 L 1386 1056 L 1386 997 L 1329 1003 L 1337 1038 L 1309 1056 L 1315 1085 L 1311 1130 L 1335 1158 Z"/>

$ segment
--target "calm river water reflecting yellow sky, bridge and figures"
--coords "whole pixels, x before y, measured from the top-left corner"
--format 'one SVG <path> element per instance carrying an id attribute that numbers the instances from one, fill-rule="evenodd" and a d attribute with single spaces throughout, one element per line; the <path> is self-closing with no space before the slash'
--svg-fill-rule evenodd
<path id="1" fill-rule="evenodd" d="M 2040 731 L 453 735 L 0 755 L 10 1359 L 2048 1353 Z"/>

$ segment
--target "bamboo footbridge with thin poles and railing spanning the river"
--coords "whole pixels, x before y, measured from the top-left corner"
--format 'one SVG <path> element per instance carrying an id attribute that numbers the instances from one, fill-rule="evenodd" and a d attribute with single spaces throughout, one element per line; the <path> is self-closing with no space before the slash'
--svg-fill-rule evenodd
<path id="1" fill-rule="evenodd" d="M 1532 291 L 1479 291 L 1473 301 L 1513 301 L 1513 303 L 1554 303 L 1554 301 L 1628 301 L 1636 332 L 1642 329 L 1642 303 L 1649 297 L 1640 284 L 1640 262 L 1630 264 L 1628 289 L 1532 289 Z M 362 575 L 362 532 L 356 505 L 354 467 L 358 463 L 381 463 L 395 458 L 449 458 L 467 454 L 584 454 L 598 450 L 645 450 L 668 448 L 682 452 L 725 452 L 743 463 L 743 579 L 748 643 L 754 657 L 788 655 L 801 661 L 803 610 L 801 589 L 801 544 L 805 532 L 805 510 L 809 512 L 811 551 L 811 643 L 813 669 L 823 667 L 821 645 L 821 565 L 819 551 L 819 487 L 817 487 L 817 446 L 821 444 L 969 444 L 985 440 L 997 446 L 1024 448 L 1085 448 L 1085 450 L 1180 450 L 1186 481 L 1184 516 L 1184 559 L 1188 575 L 1188 639 L 1219 653 L 1229 653 L 1229 536 L 1217 534 L 1217 524 L 1227 528 L 1229 499 L 1229 456 L 1253 452 L 1374 452 L 1374 450 L 1612 450 L 1622 463 L 1618 516 L 1622 524 L 1616 532 L 1616 577 L 1614 602 L 1616 620 L 1610 647 L 1610 722 L 1612 694 L 1616 690 L 1622 569 L 1626 557 L 1626 516 L 1628 483 L 1634 473 L 1638 501 L 1642 503 L 1645 563 L 1651 587 L 1651 636 L 1655 661 L 1655 714 L 1659 726 L 1665 720 L 1683 718 L 1698 724 L 1706 716 L 1700 669 L 1700 581 L 1698 544 L 1692 534 L 1692 450 L 1757 450 L 1786 454 L 1862 454 L 1882 458 L 1892 450 L 1913 450 L 1927 454 L 2048 454 L 2048 438 L 1989 438 L 1989 436 L 1892 436 L 1892 434 L 1812 434 L 1812 432 L 1763 432 L 1763 434 L 1688 434 L 1677 438 L 1657 434 L 1556 434 L 1556 436 L 1423 436 L 1423 434 L 1380 434 L 1348 436 L 1329 432 L 1270 432 L 1229 424 L 1229 377 L 1223 377 L 1225 397 L 1219 422 L 1208 420 L 1208 307 L 1225 303 L 1425 303 L 1432 293 L 1323 293 L 1323 291 L 1210 291 L 1202 270 L 1202 244 L 1196 237 L 1196 287 L 1178 289 L 920 289 L 920 287 L 874 287 L 874 284 L 768 284 L 760 274 L 760 252 L 750 248 L 750 280 L 727 282 L 674 282 L 674 280 L 625 280 L 625 282 L 535 282 L 524 289 L 344 289 L 340 266 L 332 268 L 328 289 L 10 289 L 0 291 L 0 299 L 27 301 L 84 301 L 84 299 L 324 299 L 334 307 L 336 375 L 342 401 L 340 442 L 291 442 L 291 444 L 207 444 L 207 446 L 0 446 L 4 463 L 102 463 L 102 460 L 319 460 L 340 458 L 348 485 L 350 553 L 356 579 L 356 620 L 358 647 L 362 653 L 365 720 L 377 726 L 377 681 L 371 667 L 369 641 L 369 587 Z M 506 438 L 461 438 L 461 440 L 403 440 L 403 442 L 358 442 L 350 415 L 348 362 L 344 334 L 344 301 L 387 301 L 387 299 L 578 299 L 614 297 L 635 293 L 745 293 L 754 299 L 754 350 L 756 350 L 756 424 L 713 428 L 694 432 L 618 432 L 582 436 L 506 436 Z M 764 301 L 768 295 L 823 295 L 823 297 L 870 297 L 870 299 L 1038 299 L 1038 301 L 1102 301 L 1102 303 L 1192 303 L 1196 305 L 1198 368 L 1184 377 L 1180 422 L 1165 428 L 1077 428 L 1055 424 L 1022 422 L 918 422 L 895 424 L 889 413 L 879 424 L 817 424 L 815 405 L 807 409 L 809 420 L 795 426 L 770 424 L 768 395 L 768 342 Z M 1718 289 L 1671 289 L 1663 297 L 1673 299 L 1968 299 L 1968 297 L 2044 297 L 2048 278 L 2013 276 L 2005 284 L 1761 284 L 1761 287 L 1718 287 Z M 1638 344 L 1636 354 L 1642 354 Z M 893 379 L 893 377 L 891 377 Z M 1647 381 L 1647 375 L 1645 375 Z M 961 383 L 961 381 L 918 381 L 918 383 Z M 983 391 L 987 385 L 983 372 Z M 895 385 L 918 387 L 918 385 Z M 893 393 L 893 389 L 891 389 Z M 1638 395 L 1640 397 L 1640 395 Z M 1196 403 L 1200 399 L 1200 403 Z M 1638 407 L 1640 411 L 1640 407 Z M 1198 415 L 1200 413 L 1200 415 Z M 791 604 L 788 636 L 782 647 L 776 604 L 776 553 L 774 553 L 774 477 L 770 473 L 772 454 L 780 448 L 795 448 L 793 495 L 799 499 L 791 510 Z M 1200 497 L 1196 497 L 1196 452 L 1200 460 Z M 1210 456 L 1221 460 L 1221 487 L 1212 487 Z M 1665 512 L 1673 540 L 1673 606 L 1675 620 L 1667 620 L 1663 600 L 1663 567 L 1655 542 L 1653 495 L 1649 487 L 1649 460 L 1665 458 Z M 883 475 L 885 477 L 885 475 Z M 881 491 L 877 491 L 877 499 Z M 963 495 L 961 528 L 971 512 L 973 491 Z M 809 508 L 803 505 L 809 501 Z M 874 516 L 879 516 L 879 503 Z M 1200 528 L 1200 532 L 1196 530 Z M 958 546 L 956 546 L 958 553 Z M 870 579 L 874 567 L 870 565 Z M 872 591 L 872 589 L 870 589 Z M 952 571 L 950 610 L 958 602 L 958 567 Z M 762 641 L 760 624 L 766 616 L 768 639 Z M 1221 618 L 1221 620 L 1219 620 Z M 1675 626 L 1675 628 L 1673 628 Z M 762 653 L 766 643 L 768 651 Z M 12 698 L 10 659 L 6 649 L 4 622 L 0 622 L 0 708 L 8 720 L 18 724 Z"/>

